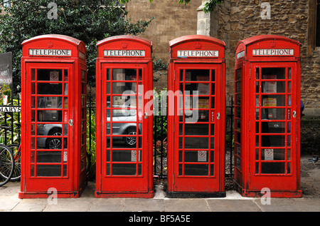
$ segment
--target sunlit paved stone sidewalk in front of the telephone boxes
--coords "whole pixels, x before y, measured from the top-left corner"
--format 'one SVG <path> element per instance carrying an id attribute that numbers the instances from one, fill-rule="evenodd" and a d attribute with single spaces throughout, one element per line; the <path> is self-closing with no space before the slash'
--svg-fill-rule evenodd
<path id="1" fill-rule="evenodd" d="M 319 180 L 303 183 L 320 185 Z M 319 212 L 319 195 L 302 198 L 271 198 L 263 205 L 260 198 L 242 197 L 234 190 L 220 198 L 168 198 L 161 185 L 155 186 L 155 196 L 142 198 L 95 198 L 95 183 L 88 183 L 79 198 L 58 199 L 56 205 L 43 199 L 19 199 L 19 182 L 0 187 L 0 212 Z M 317 190 L 319 192 L 319 190 Z"/>

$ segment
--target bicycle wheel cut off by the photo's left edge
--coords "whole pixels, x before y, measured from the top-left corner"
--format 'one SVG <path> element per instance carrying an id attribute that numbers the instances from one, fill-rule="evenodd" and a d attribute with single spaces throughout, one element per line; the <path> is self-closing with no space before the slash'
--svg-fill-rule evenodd
<path id="1" fill-rule="evenodd" d="M 6 145 L 0 144 L 0 186 L 5 185 L 14 173 L 14 154 Z"/>

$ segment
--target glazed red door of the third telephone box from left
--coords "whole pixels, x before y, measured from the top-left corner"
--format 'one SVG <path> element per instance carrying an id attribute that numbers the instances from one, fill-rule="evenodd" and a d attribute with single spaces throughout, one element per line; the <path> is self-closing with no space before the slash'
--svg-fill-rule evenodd
<path id="1" fill-rule="evenodd" d="M 221 67 L 175 65 L 175 192 L 220 191 L 220 173 L 224 173 L 220 172 L 224 156 L 219 151 L 220 123 L 224 123 L 220 120 Z"/>

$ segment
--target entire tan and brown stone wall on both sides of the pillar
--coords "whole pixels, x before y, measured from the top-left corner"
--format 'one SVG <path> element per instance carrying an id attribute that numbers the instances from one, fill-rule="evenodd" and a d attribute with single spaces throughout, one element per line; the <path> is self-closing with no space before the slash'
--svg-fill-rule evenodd
<path id="1" fill-rule="evenodd" d="M 151 4 L 149 0 L 134 0 L 127 5 L 127 10 L 132 21 L 154 16 L 154 21 L 141 36 L 153 41 L 154 56 L 167 62 L 169 40 L 196 34 L 197 9 L 204 1 L 206 0 L 192 0 L 187 6 L 181 6 L 178 0 L 154 0 Z M 210 36 L 219 38 L 226 44 L 228 101 L 233 96 L 235 46 L 238 41 L 250 36 L 276 34 L 302 43 L 301 98 L 306 108 L 304 113 L 320 115 L 320 50 L 315 50 L 308 56 L 309 1 L 313 0 L 225 0 L 207 16 L 210 18 Z M 270 4 L 270 19 L 262 19 L 263 3 Z M 198 26 L 204 25 L 199 23 Z M 207 29 L 208 24 L 204 27 Z"/>

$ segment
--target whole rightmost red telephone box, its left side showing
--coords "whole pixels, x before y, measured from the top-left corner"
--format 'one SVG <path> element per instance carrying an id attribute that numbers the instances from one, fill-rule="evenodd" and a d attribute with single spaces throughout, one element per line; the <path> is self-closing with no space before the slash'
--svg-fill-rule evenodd
<path id="1" fill-rule="evenodd" d="M 235 183 L 248 197 L 302 197 L 300 46 L 254 36 L 235 48 Z"/>

